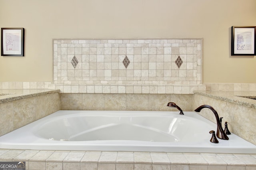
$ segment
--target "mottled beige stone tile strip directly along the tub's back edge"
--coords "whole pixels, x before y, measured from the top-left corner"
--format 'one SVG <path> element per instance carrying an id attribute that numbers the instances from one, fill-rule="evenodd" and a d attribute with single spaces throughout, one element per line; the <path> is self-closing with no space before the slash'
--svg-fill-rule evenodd
<path id="1" fill-rule="evenodd" d="M 192 111 L 191 94 L 91 94 L 60 93 L 62 110 L 178 111 L 167 107 L 175 102 L 182 111 Z"/>

